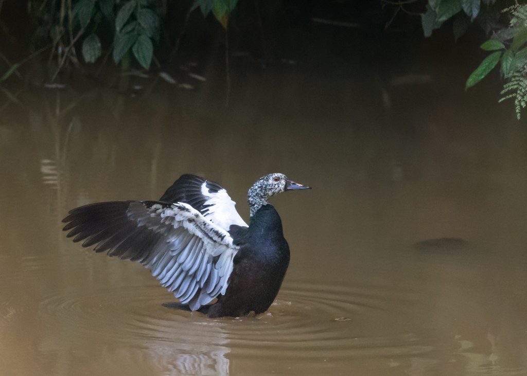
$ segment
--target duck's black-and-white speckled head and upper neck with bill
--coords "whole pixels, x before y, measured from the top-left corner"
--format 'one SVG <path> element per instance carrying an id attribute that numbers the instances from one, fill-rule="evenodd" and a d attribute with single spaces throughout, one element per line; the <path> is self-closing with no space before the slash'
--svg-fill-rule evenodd
<path id="1" fill-rule="evenodd" d="M 308 185 L 295 183 L 284 174 L 274 173 L 262 176 L 247 193 L 250 215 L 253 216 L 262 205 L 267 205 L 269 197 L 277 193 L 310 188 Z"/>

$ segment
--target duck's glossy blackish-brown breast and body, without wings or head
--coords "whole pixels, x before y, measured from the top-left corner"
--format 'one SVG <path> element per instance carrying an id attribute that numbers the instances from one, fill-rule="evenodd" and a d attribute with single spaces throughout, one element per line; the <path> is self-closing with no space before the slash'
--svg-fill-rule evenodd
<path id="1" fill-rule="evenodd" d="M 280 216 L 268 204 L 251 218 L 249 228 L 231 226 L 229 233 L 240 245 L 229 287 L 202 312 L 209 317 L 265 312 L 275 300 L 289 265 L 289 245 Z"/>

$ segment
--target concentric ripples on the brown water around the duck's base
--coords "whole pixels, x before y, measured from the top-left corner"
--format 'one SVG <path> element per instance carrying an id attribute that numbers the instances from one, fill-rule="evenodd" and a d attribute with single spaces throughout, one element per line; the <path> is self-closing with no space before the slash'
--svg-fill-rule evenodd
<path id="1" fill-rule="evenodd" d="M 252 357 L 393 357 L 433 350 L 415 335 L 365 332 L 361 318 L 389 315 L 404 294 L 386 286 L 292 283 L 280 291 L 268 312 L 245 318 L 209 319 L 198 312 L 164 308 L 157 285 L 114 289 L 66 289 L 44 296 L 42 315 L 53 315 L 77 333 L 104 333 L 125 342 L 138 339 L 178 343 L 189 350 L 226 347 Z M 379 333 L 384 333 L 380 335 Z"/>

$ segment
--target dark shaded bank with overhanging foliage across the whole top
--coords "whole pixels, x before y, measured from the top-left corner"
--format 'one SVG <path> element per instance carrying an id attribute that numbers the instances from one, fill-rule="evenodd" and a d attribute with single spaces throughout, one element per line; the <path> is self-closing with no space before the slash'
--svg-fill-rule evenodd
<path id="1" fill-rule="evenodd" d="M 17 6 L 13 6 L 15 2 Z M 263 50 L 266 43 L 276 43 L 270 34 L 280 37 L 280 31 L 268 33 L 266 27 L 274 21 L 278 24 L 286 14 L 291 25 L 323 22 L 372 28 L 376 32 L 410 25 L 408 28 L 413 33 L 425 37 L 432 36 L 436 29 L 448 28 L 452 31 L 453 43 L 469 30 L 480 33 L 480 39 L 487 38 L 481 49 L 489 53 L 467 78 L 465 87 L 476 85 L 489 74 L 497 76 L 499 71 L 503 82 L 499 101 L 511 98 L 520 118 L 527 104 L 527 5 L 514 0 L 367 3 L 361 4 L 359 0 L 0 0 L 0 41 L 9 42 L 17 33 L 25 35 L 17 43 L 26 43 L 25 51 L 28 51 L 24 56 L 16 56 L 11 53 L 9 43 L 0 44 L 0 88 L 9 100 L 16 101 L 16 95 L 5 88 L 5 83 L 15 77 L 22 78 L 24 64 L 36 57 L 46 64 L 48 87 L 60 87 L 64 72 L 75 70 L 96 77 L 110 64 L 121 72 L 132 69 L 155 72 L 163 80 L 174 83 L 165 68 L 173 63 L 182 39 L 189 32 L 201 28 L 208 31 L 206 37 L 221 35 L 228 60 L 229 53 L 233 52 L 229 51 L 228 43 L 233 27 L 239 35 L 261 41 Z M 339 14 L 339 7 L 346 6 L 351 11 Z M 13 8 L 24 9 L 25 18 L 14 21 L 12 17 L 20 14 L 12 15 Z M 337 12 L 331 12 L 331 8 Z M 330 10 L 321 12 L 321 9 Z M 267 25 L 262 23 L 262 13 Z M 194 22 L 189 22 L 191 18 Z"/>

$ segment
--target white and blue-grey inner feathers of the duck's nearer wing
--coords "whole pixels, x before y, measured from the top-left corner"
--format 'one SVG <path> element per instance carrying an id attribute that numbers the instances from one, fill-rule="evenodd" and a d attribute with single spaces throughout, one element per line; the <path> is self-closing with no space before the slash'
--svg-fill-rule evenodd
<path id="1" fill-rule="evenodd" d="M 225 294 L 239 249 L 229 233 L 186 203 L 154 204 L 147 215 L 144 210 L 143 203 L 132 202 L 126 214 L 165 235 L 142 261 L 161 285 L 191 310 Z"/>

